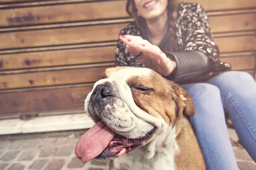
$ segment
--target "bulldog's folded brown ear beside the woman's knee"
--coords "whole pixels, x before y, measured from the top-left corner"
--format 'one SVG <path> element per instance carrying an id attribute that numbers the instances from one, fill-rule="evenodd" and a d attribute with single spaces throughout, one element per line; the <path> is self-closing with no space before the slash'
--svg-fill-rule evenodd
<path id="1" fill-rule="evenodd" d="M 183 101 L 183 114 L 193 116 L 195 114 L 195 105 L 190 94 L 175 83 L 173 83 L 172 87 L 177 96 Z"/>

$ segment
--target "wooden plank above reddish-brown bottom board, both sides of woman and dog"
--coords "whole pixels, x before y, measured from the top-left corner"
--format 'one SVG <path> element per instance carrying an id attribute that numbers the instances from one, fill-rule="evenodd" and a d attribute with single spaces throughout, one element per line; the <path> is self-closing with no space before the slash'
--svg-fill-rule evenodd
<path id="1" fill-rule="evenodd" d="M 255 56 L 226 57 L 221 58 L 221 60 L 230 63 L 233 70 L 249 70 L 255 68 Z M 102 72 L 111 66 L 113 65 L 97 68 L 1 75 L 0 89 L 96 82 L 99 80 Z"/>

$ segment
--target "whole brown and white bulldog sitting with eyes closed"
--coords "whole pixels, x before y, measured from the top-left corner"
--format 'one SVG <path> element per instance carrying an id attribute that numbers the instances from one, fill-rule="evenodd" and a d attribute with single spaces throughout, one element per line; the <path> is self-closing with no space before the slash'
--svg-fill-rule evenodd
<path id="1" fill-rule="evenodd" d="M 114 160 L 111 170 L 205 170 L 187 118 L 195 114 L 192 98 L 157 72 L 108 68 L 84 106 L 95 125 L 76 144 L 82 162 Z"/>

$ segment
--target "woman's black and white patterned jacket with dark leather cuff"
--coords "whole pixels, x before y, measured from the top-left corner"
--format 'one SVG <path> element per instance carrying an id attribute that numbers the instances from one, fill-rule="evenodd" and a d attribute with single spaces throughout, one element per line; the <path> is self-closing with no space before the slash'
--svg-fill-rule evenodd
<path id="1" fill-rule="evenodd" d="M 224 71 L 230 71 L 230 64 L 221 62 L 219 59 L 218 47 L 212 39 L 211 28 L 204 8 L 196 3 L 180 3 L 177 12 L 176 35 L 179 52 L 172 53 L 172 42 L 170 42 L 170 38 L 166 38 L 170 37 L 169 31 L 164 34 L 161 40 L 162 45 L 161 42 L 158 45 L 167 57 L 175 59 L 177 62 L 175 75 L 172 75 L 172 78 L 167 78 L 179 84 L 204 82 Z M 120 31 L 120 35 L 125 34 L 150 40 L 150 37 L 145 36 L 148 35 L 145 33 L 145 29 L 142 31 L 135 22 Z M 166 49 L 166 44 L 170 48 Z M 120 40 L 118 40 L 115 53 L 116 66 L 145 67 L 137 57 L 127 51 L 125 44 Z"/>

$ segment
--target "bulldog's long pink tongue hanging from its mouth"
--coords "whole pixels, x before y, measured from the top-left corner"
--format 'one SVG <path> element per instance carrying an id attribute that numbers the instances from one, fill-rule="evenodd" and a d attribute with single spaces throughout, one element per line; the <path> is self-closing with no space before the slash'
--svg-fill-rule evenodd
<path id="1" fill-rule="evenodd" d="M 115 134 L 104 122 L 97 122 L 76 143 L 76 156 L 84 163 L 90 161 L 102 153 Z"/>

